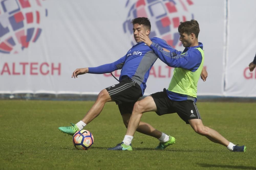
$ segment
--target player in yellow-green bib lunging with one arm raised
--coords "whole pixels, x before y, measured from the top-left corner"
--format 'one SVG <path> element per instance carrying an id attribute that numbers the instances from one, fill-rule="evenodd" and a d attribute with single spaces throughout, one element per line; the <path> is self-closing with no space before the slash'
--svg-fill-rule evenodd
<path id="1" fill-rule="evenodd" d="M 146 43 L 160 60 L 170 67 L 175 67 L 174 74 L 167 90 L 154 93 L 135 103 L 124 140 L 109 150 L 132 150 L 133 135 L 143 113 L 155 111 L 158 115 L 177 113 L 196 133 L 226 146 L 230 151 L 245 152 L 244 145 L 234 145 L 216 130 L 203 125 L 196 106 L 197 82 L 204 64 L 203 45 L 198 42 L 199 24 L 196 20 L 180 22 L 178 31 L 179 40 L 185 47 L 183 52 L 162 48 L 144 34 L 139 34 L 140 40 Z M 156 149 L 165 149 L 173 143 L 175 138 L 169 136 L 168 141 L 160 142 Z"/>

